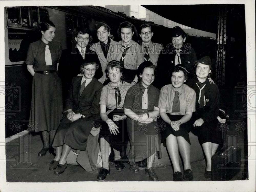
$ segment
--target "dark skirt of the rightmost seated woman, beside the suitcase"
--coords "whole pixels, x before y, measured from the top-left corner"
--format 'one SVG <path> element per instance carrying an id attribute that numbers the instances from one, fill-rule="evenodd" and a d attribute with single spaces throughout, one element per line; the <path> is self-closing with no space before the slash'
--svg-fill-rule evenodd
<path id="1" fill-rule="evenodd" d="M 207 121 L 204 122 L 203 125 L 200 127 L 193 127 L 193 123 L 197 120 L 200 119 L 202 115 L 200 112 L 193 112 L 193 116 L 191 118 L 192 121 L 192 128 L 191 132 L 195 134 L 198 137 L 198 141 L 200 144 L 211 142 L 211 143 L 216 143 L 216 144 L 223 144 L 222 141 L 222 131 L 219 126 L 219 121 L 217 117 L 212 120 L 212 121 Z M 223 133 L 224 134 L 224 133 Z"/>

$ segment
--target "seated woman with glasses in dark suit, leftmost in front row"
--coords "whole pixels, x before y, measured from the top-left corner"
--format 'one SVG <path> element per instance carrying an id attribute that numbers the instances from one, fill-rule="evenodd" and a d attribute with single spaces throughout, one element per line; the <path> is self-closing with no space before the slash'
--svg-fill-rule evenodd
<path id="1" fill-rule="evenodd" d="M 66 99 L 65 114 L 59 125 L 52 146 L 56 156 L 49 170 L 61 174 L 67 168 L 67 156 L 72 149 L 84 151 L 94 121 L 100 119 L 100 94 L 103 85 L 94 78 L 98 64 L 81 65 L 83 76 L 74 77 Z"/>

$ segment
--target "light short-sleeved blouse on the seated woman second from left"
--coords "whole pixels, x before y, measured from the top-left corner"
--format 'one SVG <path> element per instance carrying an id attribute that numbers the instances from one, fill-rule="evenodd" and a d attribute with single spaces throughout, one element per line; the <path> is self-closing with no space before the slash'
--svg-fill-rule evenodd
<path id="1" fill-rule="evenodd" d="M 125 95 L 131 86 L 132 85 L 130 83 L 127 83 L 125 81 L 123 81 L 121 86 L 119 86 L 121 103 L 119 104 L 118 109 L 123 108 Z M 116 109 L 115 89 L 113 85 L 111 86 L 111 82 L 102 88 L 100 95 L 100 105 L 106 105 L 106 107 L 109 109 Z"/>

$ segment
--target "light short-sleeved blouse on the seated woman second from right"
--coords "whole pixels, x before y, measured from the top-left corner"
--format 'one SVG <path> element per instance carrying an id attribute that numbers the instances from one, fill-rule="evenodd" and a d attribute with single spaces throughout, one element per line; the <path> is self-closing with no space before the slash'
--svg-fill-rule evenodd
<path id="1" fill-rule="evenodd" d="M 196 111 L 196 93 L 189 86 L 183 84 L 179 93 L 180 111 L 173 113 L 173 100 L 175 96 L 175 90 L 172 84 L 162 87 L 159 96 L 158 107 L 166 109 L 166 113 L 172 115 L 185 115 L 186 112 Z"/>

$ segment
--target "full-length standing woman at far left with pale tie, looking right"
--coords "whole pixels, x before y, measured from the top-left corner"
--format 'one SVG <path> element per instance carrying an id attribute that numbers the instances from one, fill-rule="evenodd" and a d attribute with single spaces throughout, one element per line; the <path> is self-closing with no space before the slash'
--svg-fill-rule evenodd
<path id="1" fill-rule="evenodd" d="M 55 30 L 51 21 L 42 22 L 42 38 L 29 45 L 26 59 L 27 69 L 33 76 L 29 120 L 35 132 L 42 133 L 44 142 L 38 156 L 44 156 L 49 150 L 63 109 L 61 80 L 57 75 L 62 48 L 59 41 L 53 40 Z"/>

